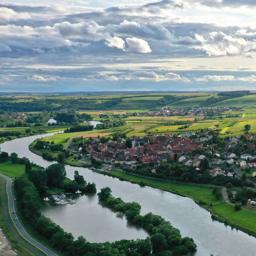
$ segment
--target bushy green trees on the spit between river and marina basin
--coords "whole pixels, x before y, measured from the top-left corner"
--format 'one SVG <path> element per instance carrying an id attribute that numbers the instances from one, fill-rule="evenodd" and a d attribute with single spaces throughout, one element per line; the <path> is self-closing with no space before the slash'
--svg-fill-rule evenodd
<path id="1" fill-rule="evenodd" d="M 193 239 L 189 237 L 182 238 L 180 230 L 174 228 L 162 216 L 155 215 L 152 212 L 142 216 L 140 215 L 140 204 L 136 202 L 125 203 L 120 197 L 113 197 L 111 193 L 111 189 L 106 187 L 101 188 L 97 195 L 100 201 L 104 201 L 115 212 L 122 212 L 129 222 L 140 225 L 151 235 L 144 240 L 144 244 L 147 245 L 147 251 L 144 250 L 144 253 L 140 254 L 138 250 L 135 250 L 139 254 L 134 252 L 132 255 L 150 255 L 151 248 L 153 253 L 158 255 L 168 255 L 164 254 L 165 250 L 171 250 L 172 255 L 185 254 L 196 250 L 196 244 Z M 141 243 L 141 240 L 139 243 Z"/>

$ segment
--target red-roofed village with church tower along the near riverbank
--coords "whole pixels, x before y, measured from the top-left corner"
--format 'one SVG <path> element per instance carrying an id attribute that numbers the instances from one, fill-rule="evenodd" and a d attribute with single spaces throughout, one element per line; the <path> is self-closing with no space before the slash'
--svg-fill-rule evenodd
<path id="1" fill-rule="evenodd" d="M 220 139 L 219 133 L 206 129 L 197 133 L 146 134 L 140 137 L 119 137 L 116 140 L 98 137 L 91 139 L 89 145 L 87 143 L 84 146 L 79 144 L 79 141 L 71 142 L 70 148 L 77 150 L 84 159 L 94 159 L 124 170 L 145 167 L 152 173 L 161 173 L 164 165 L 172 166 L 175 163 L 183 168 L 183 172 L 193 170 L 199 176 L 204 175 L 207 170 L 213 179 L 220 176 L 240 179 L 246 171 L 245 180 L 254 186 L 255 140 L 256 135 L 248 133 Z"/>

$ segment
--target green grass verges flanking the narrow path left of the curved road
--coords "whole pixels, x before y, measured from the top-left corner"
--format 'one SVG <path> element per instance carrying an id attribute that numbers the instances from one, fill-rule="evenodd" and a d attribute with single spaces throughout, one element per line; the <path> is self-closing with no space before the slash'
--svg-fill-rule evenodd
<path id="1" fill-rule="evenodd" d="M 0 191 L 2 189 L 2 186 L 4 186 L 5 200 L 6 200 L 6 202 L 8 202 L 7 193 L 6 193 L 6 183 L 3 184 L 2 179 L 0 179 Z M 4 235 L 10 241 L 10 243 L 12 245 L 12 249 L 14 249 L 17 252 L 18 256 L 35 256 L 35 254 L 30 252 L 24 245 L 18 243 L 17 240 L 12 236 L 9 229 L 7 228 L 6 223 L 4 222 L 4 217 L 3 217 L 3 212 L 2 212 L 2 197 L 1 196 L 0 196 L 0 205 L 1 205 L 1 207 L 0 207 L 0 227 L 3 230 Z M 14 226 L 14 224 L 12 222 L 12 219 L 11 219 L 11 216 L 9 214 L 9 209 L 8 209 L 7 204 L 5 204 L 5 211 L 7 212 L 7 219 L 9 220 L 12 228 L 16 231 L 15 232 L 16 235 L 19 236 L 25 243 L 27 243 L 26 240 L 24 240 L 22 238 L 22 236 L 20 236 L 20 233 L 18 232 L 18 230 Z M 43 254 L 43 252 L 42 252 L 42 254 Z"/>

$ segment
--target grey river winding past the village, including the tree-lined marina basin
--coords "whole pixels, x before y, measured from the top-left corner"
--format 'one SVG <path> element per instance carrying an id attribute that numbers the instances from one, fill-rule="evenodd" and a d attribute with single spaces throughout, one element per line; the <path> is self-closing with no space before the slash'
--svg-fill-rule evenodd
<path id="1" fill-rule="evenodd" d="M 29 151 L 29 144 L 36 138 L 55 133 L 35 135 L 1 144 L 1 150 L 9 154 L 16 152 L 20 157 L 26 156 L 36 164 L 47 167 L 48 162 L 41 156 Z M 126 202 L 138 202 L 141 214 L 153 212 L 171 221 L 179 228 L 182 236 L 193 237 L 197 244 L 194 256 L 252 256 L 256 255 L 253 236 L 225 226 L 211 219 L 211 214 L 197 205 L 192 199 L 178 196 L 160 189 L 140 187 L 119 179 L 104 176 L 81 167 L 66 165 L 67 176 L 73 178 L 78 170 L 85 180 L 95 182 L 97 190 L 109 186 L 113 196 L 121 197 Z M 148 234 L 141 228 L 127 224 L 125 218 L 116 217 L 114 212 L 98 202 L 97 196 L 77 196 L 76 204 L 46 204 L 42 213 L 59 224 L 65 231 L 76 238 L 83 235 L 90 242 L 115 241 L 120 239 L 145 238 Z"/>

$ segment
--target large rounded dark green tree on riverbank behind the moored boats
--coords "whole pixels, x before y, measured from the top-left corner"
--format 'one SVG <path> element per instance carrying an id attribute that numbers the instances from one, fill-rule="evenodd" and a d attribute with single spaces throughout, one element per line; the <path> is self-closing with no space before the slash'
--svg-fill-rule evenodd
<path id="1" fill-rule="evenodd" d="M 67 172 L 62 164 L 51 164 L 46 169 L 47 184 L 50 187 L 60 187 L 66 178 Z"/>

